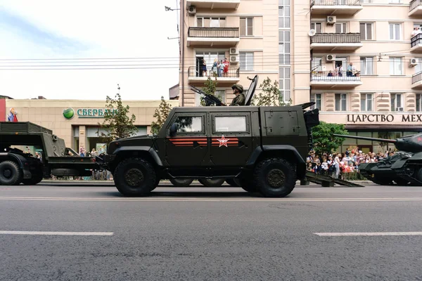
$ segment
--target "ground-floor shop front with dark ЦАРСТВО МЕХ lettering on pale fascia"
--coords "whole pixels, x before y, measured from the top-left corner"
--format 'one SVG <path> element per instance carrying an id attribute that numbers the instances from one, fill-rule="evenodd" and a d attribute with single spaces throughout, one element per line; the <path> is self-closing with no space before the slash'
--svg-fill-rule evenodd
<path id="1" fill-rule="evenodd" d="M 418 112 L 320 112 L 320 120 L 329 123 L 345 124 L 345 129 L 351 136 L 369 138 L 401 138 L 415 133 L 422 133 L 422 115 Z M 362 152 L 385 152 L 394 150 L 391 143 L 365 141 L 347 138 L 338 152 L 359 148 Z"/>

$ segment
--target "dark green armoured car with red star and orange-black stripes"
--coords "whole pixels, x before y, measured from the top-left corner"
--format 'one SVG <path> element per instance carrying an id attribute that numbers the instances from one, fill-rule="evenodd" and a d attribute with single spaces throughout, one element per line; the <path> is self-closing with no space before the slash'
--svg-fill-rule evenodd
<path id="1" fill-rule="evenodd" d="M 96 162 L 126 196 L 148 195 L 166 178 L 236 178 L 248 192 L 285 197 L 305 178 L 319 124 L 318 110 L 305 110 L 313 104 L 174 107 L 157 135 L 113 141 Z"/>

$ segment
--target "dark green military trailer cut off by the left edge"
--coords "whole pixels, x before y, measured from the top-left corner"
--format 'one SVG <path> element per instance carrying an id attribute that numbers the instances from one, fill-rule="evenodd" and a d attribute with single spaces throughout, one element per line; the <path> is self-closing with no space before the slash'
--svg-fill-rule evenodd
<path id="1" fill-rule="evenodd" d="M 34 146 L 41 158 L 19 147 Z M 94 157 L 80 157 L 53 131 L 31 122 L 0 122 L 0 185 L 35 185 L 53 176 L 91 176 Z"/>

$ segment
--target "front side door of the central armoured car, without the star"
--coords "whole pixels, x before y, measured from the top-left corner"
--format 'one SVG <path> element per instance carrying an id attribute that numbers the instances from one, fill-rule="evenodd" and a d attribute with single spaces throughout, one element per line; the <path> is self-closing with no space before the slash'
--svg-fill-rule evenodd
<path id="1" fill-rule="evenodd" d="M 204 165 L 208 152 L 205 112 L 176 113 L 167 128 L 165 161 L 172 168 L 197 168 Z M 170 136 L 172 124 L 178 124 L 174 136 Z"/>

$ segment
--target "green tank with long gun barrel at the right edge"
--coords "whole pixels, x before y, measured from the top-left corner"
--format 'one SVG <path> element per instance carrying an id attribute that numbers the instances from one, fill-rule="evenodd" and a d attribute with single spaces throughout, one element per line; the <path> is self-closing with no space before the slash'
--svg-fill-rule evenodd
<path id="1" fill-rule="evenodd" d="M 334 136 L 394 144 L 398 152 L 379 162 L 359 164 L 359 173 L 380 185 L 390 185 L 393 181 L 397 185 L 422 185 L 422 133 L 395 140 L 339 134 Z"/>

